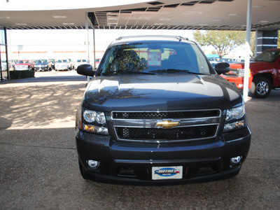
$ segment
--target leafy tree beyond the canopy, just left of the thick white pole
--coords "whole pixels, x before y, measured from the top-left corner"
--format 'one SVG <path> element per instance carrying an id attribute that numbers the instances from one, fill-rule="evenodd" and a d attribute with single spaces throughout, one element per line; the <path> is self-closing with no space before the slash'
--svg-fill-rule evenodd
<path id="1" fill-rule="evenodd" d="M 219 57 L 230 53 L 230 50 L 243 45 L 246 39 L 246 31 L 195 31 L 195 41 L 201 46 L 213 46 Z"/>

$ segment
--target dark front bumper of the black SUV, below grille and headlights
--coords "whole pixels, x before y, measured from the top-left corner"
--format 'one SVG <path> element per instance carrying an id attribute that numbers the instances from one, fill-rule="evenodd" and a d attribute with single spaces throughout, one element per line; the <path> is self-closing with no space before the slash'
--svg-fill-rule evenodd
<path id="1" fill-rule="evenodd" d="M 211 141 L 180 144 L 131 144 L 111 137 L 76 132 L 80 164 L 95 181 L 112 183 L 172 184 L 223 179 L 238 174 L 251 141 L 248 127 L 222 134 Z M 238 165 L 230 158 L 241 156 Z M 100 167 L 90 169 L 87 160 L 97 160 Z M 152 167 L 182 166 L 182 179 L 153 180 Z"/>

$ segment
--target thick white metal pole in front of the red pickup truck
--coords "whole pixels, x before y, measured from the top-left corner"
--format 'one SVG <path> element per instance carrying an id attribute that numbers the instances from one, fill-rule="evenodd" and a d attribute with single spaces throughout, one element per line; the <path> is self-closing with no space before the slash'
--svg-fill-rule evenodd
<path id="1" fill-rule="evenodd" d="M 243 98 L 244 102 L 248 101 L 248 80 L 249 80 L 249 68 L 250 68 L 250 37 L 251 37 L 251 11 L 252 0 L 247 1 L 247 21 L 246 21 L 246 45 L 245 45 L 245 65 L 244 65 L 244 86 L 243 86 Z"/>

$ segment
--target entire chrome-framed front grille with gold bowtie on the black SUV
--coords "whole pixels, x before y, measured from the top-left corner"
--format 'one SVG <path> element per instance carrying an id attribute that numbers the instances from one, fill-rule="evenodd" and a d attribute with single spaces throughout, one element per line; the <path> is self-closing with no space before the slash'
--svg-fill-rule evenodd
<path id="1" fill-rule="evenodd" d="M 221 110 L 112 111 L 111 120 L 118 141 L 197 141 L 216 137 Z"/>

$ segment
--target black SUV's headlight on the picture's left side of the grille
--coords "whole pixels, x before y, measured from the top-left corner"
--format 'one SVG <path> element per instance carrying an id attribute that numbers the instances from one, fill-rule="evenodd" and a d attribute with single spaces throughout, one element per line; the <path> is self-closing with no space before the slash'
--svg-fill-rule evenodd
<path id="1" fill-rule="evenodd" d="M 86 109 L 83 111 L 83 130 L 96 134 L 109 135 L 104 112 Z"/>

